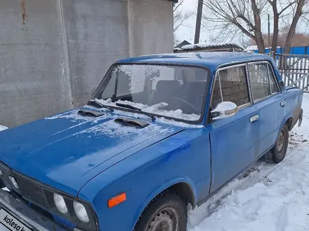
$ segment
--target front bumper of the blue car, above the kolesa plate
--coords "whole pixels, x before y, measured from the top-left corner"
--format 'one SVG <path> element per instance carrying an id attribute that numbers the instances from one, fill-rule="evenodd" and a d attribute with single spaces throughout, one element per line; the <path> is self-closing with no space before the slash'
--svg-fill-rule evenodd
<path id="1" fill-rule="evenodd" d="M 8 211 L 34 231 L 67 231 L 2 189 L 0 189 L 0 208 Z"/>

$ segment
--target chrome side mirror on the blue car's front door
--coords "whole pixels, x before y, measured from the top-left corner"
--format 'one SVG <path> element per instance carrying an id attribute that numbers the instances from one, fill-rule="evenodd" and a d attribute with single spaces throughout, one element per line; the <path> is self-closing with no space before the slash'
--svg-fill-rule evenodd
<path id="1" fill-rule="evenodd" d="M 220 120 L 234 116 L 238 111 L 237 105 L 232 102 L 221 102 L 211 111 L 211 120 Z"/>

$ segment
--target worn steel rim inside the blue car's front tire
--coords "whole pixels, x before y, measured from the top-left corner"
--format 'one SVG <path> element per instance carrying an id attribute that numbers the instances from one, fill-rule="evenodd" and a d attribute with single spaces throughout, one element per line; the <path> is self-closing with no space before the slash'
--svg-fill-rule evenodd
<path id="1" fill-rule="evenodd" d="M 147 231 L 178 231 L 179 221 L 178 211 L 172 207 L 167 207 L 152 218 Z"/>

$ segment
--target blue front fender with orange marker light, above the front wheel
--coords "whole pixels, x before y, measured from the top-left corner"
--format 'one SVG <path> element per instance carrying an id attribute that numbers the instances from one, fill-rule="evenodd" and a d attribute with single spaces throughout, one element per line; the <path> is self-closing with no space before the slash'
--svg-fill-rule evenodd
<path id="1" fill-rule="evenodd" d="M 202 194 L 206 197 L 204 192 L 209 192 L 210 183 L 210 151 L 209 142 L 202 136 L 205 133 L 202 128 L 175 134 L 131 155 L 87 183 L 79 197 L 91 202 L 100 230 L 133 230 L 147 204 L 176 183 L 187 183 L 195 198 Z M 89 198 L 94 188 L 98 193 Z M 204 188 L 206 190 L 202 191 Z M 107 207 L 110 198 L 124 192 L 125 202 Z"/>

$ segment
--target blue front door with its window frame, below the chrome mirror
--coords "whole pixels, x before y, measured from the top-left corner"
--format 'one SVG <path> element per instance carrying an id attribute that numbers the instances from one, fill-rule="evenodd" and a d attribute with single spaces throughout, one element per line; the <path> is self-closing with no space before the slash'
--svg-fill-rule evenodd
<path id="1" fill-rule="evenodd" d="M 209 123 L 211 141 L 211 192 L 223 186 L 256 160 L 258 108 L 252 104 L 246 64 L 219 69 L 213 85 L 211 109 L 220 102 L 234 102 L 235 116 Z"/>

